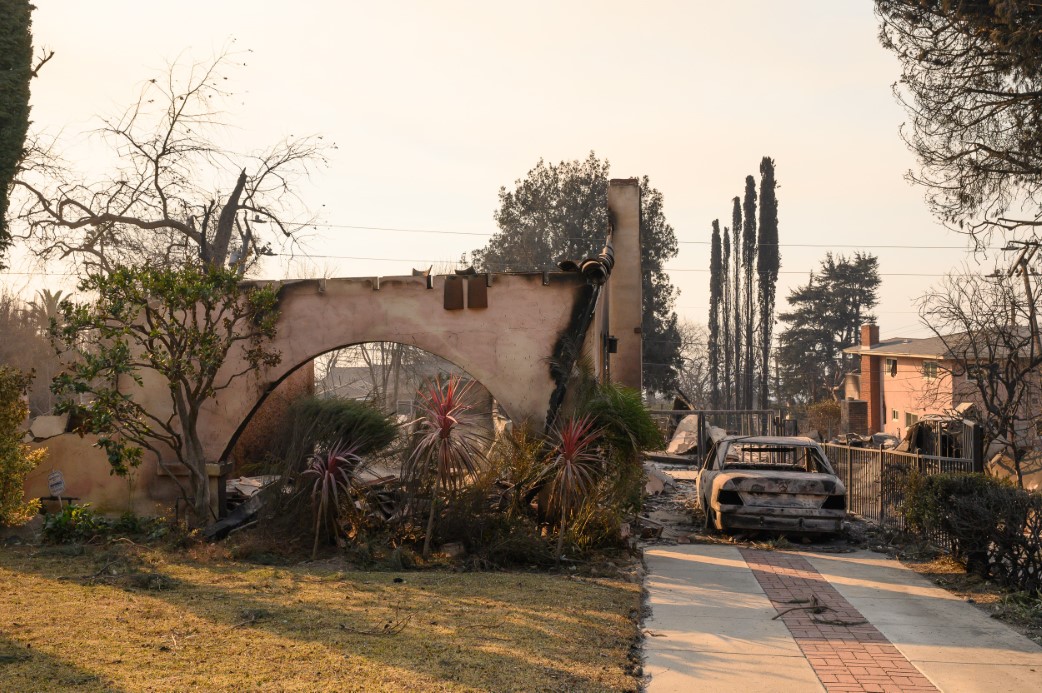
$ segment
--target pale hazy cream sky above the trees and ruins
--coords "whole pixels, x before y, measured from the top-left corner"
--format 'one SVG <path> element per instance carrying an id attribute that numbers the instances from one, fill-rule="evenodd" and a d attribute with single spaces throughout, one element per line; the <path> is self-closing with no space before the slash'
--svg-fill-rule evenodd
<path id="1" fill-rule="evenodd" d="M 925 336 L 916 297 L 979 259 L 904 178 L 899 68 L 869 0 L 34 4 L 34 43 L 55 56 L 32 83 L 33 127 L 85 172 L 103 160 L 99 117 L 171 63 L 222 51 L 235 57 L 229 147 L 336 145 L 299 190 L 311 257 L 269 262 L 272 278 L 455 261 L 495 230 L 501 185 L 590 151 L 663 193 L 681 319 L 706 322 L 712 221 L 729 225 L 764 155 L 779 183 L 779 312 L 827 251 L 863 250 L 879 258 L 883 336 Z M 16 291 L 67 280 L 15 259 L 0 282 Z"/>

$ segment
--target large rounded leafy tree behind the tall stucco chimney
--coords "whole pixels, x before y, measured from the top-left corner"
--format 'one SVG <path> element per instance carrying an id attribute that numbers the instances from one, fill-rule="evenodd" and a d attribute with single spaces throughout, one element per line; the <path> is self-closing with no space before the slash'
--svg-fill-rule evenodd
<path id="1" fill-rule="evenodd" d="M 499 189 L 495 213 L 499 232 L 471 253 L 482 271 L 554 269 L 565 258 L 596 254 L 607 229 L 610 165 L 594 152 L 584 160 L 542 159 L 513 191 Z M 676 234 L 666 221 L 663 196 L 641 178 L 644 383 L 665 392 L 676 383 L 680 336 L 673 305 L 677 290 L 663 267 L 677 253 Z"/>

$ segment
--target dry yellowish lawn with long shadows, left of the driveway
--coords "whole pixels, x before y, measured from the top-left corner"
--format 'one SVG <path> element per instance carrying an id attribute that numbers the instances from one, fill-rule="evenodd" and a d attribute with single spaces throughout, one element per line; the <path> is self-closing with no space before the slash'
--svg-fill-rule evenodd
<path id="1" fill-rule="evenodd" d="M 637 690 L 639 609 L 611 579 L 4 548 L 0 689 Z"/>

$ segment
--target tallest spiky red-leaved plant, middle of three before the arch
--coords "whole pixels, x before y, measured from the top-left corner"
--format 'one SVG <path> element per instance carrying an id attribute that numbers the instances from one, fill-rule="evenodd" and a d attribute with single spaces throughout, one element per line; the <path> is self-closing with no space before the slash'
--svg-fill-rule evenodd
<path id="1" fill-rule="evenodd" d="M 477 473 L 482 437 L 474 429 L 473 405 L 468 401 L 473 380 L 452 376 L 445 383 L 428 382 L 420 391 L 420 418 L 406 460 L 406 479 L 430 493 L 430 512 L 423 539 L 423 556 L 430 555 L 439 492 L 454 493 Z"/>

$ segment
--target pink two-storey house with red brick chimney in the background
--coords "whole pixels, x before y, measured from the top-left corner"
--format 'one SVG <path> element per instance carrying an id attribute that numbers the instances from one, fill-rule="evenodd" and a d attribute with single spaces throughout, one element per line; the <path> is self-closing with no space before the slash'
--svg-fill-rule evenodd
<path id="1" fill-rule="evenodd" d="M 951 342 L 951 338 L 947 340 Z M 863 325 L 861 345 L 843 351 L 861 356 L 861 392 L 854 398 L 867 402 L 869 434 L 883 431 L 900 438 L 923 417 L 967 412 L 979 401 L 970 378 L 978 377 L 987 365 L 965 372 L 941 338 L 884 340 L 878 326 Z M 1040 409 L 1037 398 L 1028 398 L 1026 405 L 1033 411 Z M 1028 439 L 1038 436 L 1026 424 L 1022 435 Z"/>

